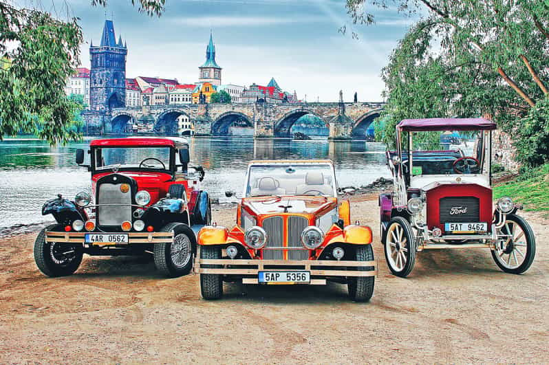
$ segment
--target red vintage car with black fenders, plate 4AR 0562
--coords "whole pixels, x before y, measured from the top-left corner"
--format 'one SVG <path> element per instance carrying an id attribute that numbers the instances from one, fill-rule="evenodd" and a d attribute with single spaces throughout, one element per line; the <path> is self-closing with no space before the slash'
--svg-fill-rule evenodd
<path id="1" fill-rule="evenodd" d="M 190 168 L 189 144 L 177 137 L 94 140 L 76 151 L 76 164 L 92 173 L 92 196 L 78 192 L 47 201 L 42 214 L 56 223 L 34 243 L 34 260 L 47 276 L 74 273 L 83 254 L 153 254 L 166 276 L 193 267 L 197 232 L 211 221 L 204 170 Z"/>

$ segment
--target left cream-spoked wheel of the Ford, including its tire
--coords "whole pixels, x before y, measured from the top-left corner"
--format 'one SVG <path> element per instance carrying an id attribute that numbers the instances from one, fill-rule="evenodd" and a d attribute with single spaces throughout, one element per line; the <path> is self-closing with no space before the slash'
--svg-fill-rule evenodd
<path id="1" fill-rule="evenodd" d="M 391 219 L 385 232 L 385 259 L 396 276 L 405 277 L 416 262 L 416 243 L 410 223 L 402 217 Z"/>

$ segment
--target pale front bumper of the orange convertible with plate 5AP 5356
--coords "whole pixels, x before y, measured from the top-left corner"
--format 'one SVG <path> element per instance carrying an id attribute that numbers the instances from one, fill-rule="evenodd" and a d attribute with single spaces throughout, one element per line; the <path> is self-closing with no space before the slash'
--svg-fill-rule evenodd
<path id="1" fill-rule="evenodd" d="M 223 265 L 219 268 L 213 268 L 210 265 Z M 210 266 L 210 267 L 204 267 Z M 237 268 L 233 266 L 238 266 Z M 376 261 L 331 261 L 331 260 L 231 260 L 222 259 L 204 259 L 200 258 L 200 251 L 195 259 L 196 274 L 221 274 L 237 276 L 256 276 L 255 278 L 242 278 L 244 284 L 257 284 L 259 272 L 292 272 L 308 271 L 311 276 L 377 276 L 378 264 Z M 365 271 L 349 270 L 347 267 L 373 267 Z M 312 278 L 310 285 L 324 285 L 325 278 Z"/>

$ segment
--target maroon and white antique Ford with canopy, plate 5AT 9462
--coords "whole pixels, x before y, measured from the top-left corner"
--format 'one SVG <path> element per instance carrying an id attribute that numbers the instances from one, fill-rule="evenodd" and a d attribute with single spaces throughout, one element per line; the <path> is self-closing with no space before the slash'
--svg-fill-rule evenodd
<path id="1" fill-rule="evenodd" d="M 493 122 L 483 118 L 402 120 L 387 152 L 394 192 L 379 197 L 389 269 L 410 274 L 416 252 L 487 248 L 504 272 L 532 265 L 535 236 L 510 197 L 491 188 Z"/>

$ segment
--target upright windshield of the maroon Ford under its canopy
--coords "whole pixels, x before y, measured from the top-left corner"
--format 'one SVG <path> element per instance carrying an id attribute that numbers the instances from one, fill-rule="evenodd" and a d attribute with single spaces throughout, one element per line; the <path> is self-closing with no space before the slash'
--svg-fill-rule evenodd
<path id="1" fill-rule="evenodd" d="M 411 175 L 479 174 L 484 170 L 486 132 L 415 132 Z M 409 168 L 409 151 L 402 151 L 402 163 Z"/>

